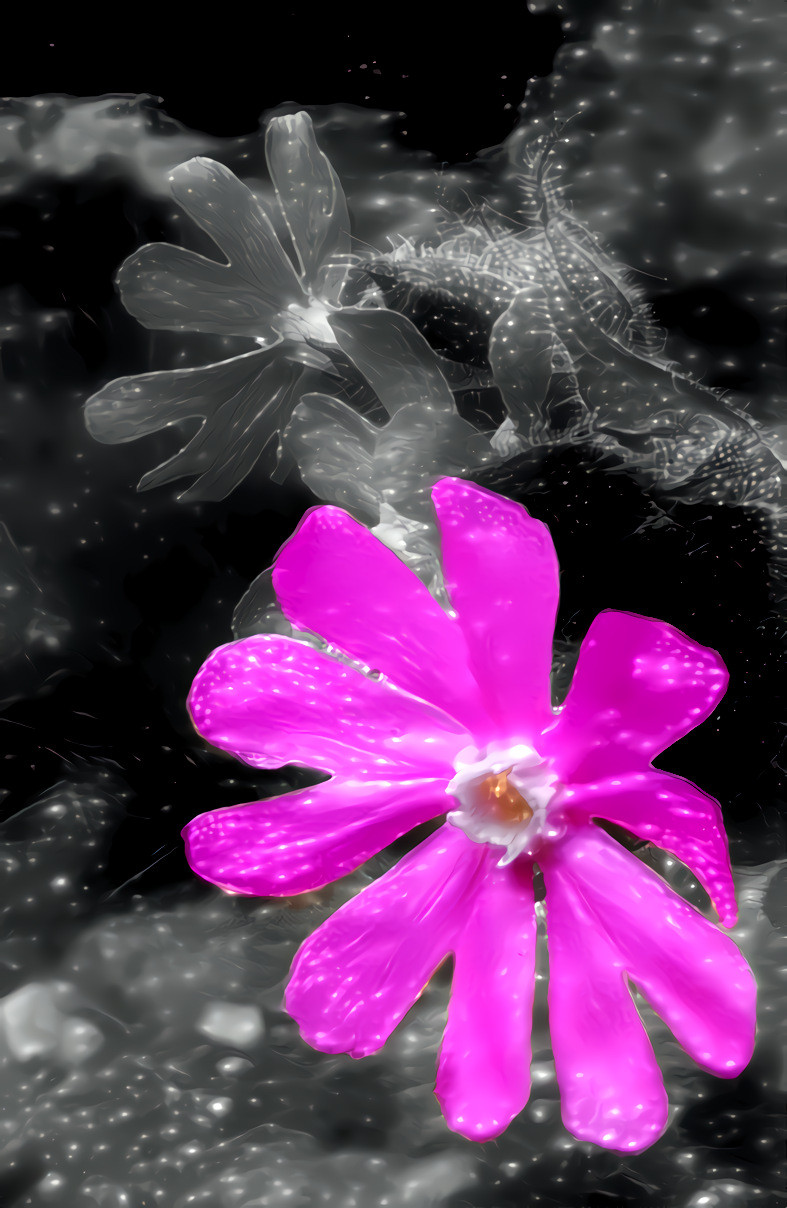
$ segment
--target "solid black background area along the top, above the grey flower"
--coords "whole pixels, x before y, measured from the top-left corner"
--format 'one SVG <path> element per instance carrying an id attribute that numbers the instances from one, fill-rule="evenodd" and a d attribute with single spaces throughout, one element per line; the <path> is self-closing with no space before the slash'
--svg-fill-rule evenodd
<path id="1" fill-rule="evenodd" d="M 405 143 L 455 163 L 502 141 L 565 37 L 555 14 L 523 4 L 498 5 L 497 21 L 411 2 L 259 6 L 209 24 L 163 13 L 151 28 L 82 25 L 65 11 L 36 22 L 4 48 L 2 92 L 150 92 L 179 122 L 231 137 L 282 101 L 346 101 L 406 114 Z"/>

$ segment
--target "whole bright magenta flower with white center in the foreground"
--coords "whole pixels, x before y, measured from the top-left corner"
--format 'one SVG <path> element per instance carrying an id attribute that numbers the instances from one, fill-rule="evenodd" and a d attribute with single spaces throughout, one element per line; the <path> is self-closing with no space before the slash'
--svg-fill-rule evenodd
<path id="1" fill-rule="evenodd" d="M 548 529 L 456 478 L 433 501 L 451 614 L 336 507 L 308 512 L 283 546 L 280 606 L 329 650 L 276 634 L 230 643 L 189 704 L 197 730 L 247 763 L 331 779 L 202 814 L 184 830 L 189 861 L 232 893 L 297 894 L 447 811 L 303 943 L 287 1009 L 316 1049 L 363 1057 L 452 953 L 436 1094 L 449 1126 L 475 1140 L 500 1133 L 530 1094 L 538 864 L 565 1125 L 637 1152 L 664 1131 L 667 1100 L 629 981 L 724 1078 L 752 1053 L 754 982 L 733 941 L 594 820 L 671 852 L 734 924 L 717 802 L 652 766 L 716 708 L 727 672 L 670 625 L 604 611 L 554 710 Z"/>

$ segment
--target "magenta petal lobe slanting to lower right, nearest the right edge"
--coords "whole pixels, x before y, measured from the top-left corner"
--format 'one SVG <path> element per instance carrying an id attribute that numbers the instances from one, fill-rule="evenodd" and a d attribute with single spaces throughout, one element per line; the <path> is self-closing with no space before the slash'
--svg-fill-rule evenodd
<path id="1" fill-rule="evenodd" d="M 756 986 L 730 937 L 598 827 L 578 830 L 548 863 L 595 919 L 583 931 L 606 934 L 678 1044 L 721 1078 L 740 1074 L 754 1045 Z"/>

